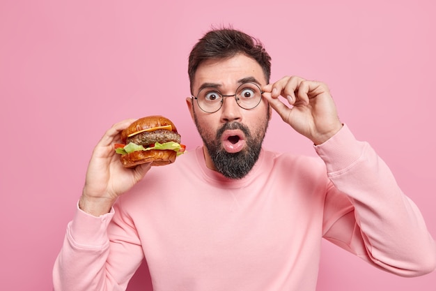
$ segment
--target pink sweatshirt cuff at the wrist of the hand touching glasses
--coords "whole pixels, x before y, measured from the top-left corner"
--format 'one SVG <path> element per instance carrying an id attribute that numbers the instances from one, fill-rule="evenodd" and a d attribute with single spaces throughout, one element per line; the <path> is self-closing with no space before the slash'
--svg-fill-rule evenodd
<path id="1" fill-rule="evenodd" d="M 326 142 L 313 146 L 316 153 L 327 167 L 328 174 L 347 170 L 355 164 L 366 147 L 366 142 L 359 142 L 346 124 Z"/>

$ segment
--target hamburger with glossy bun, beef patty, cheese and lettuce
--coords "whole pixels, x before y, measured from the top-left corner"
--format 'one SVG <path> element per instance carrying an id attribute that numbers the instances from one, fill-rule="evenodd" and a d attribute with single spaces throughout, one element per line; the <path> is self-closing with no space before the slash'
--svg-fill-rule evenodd
<path id="1" fill-rule="evenodd" d="M 134 121 L 121 132 L 122 144 L 115 144 L 124 167 L 143 163 L 152 166 L 168 165 L 185 151 L 180 144 L 176 126 L 166 117 L 153 115 Z"/>

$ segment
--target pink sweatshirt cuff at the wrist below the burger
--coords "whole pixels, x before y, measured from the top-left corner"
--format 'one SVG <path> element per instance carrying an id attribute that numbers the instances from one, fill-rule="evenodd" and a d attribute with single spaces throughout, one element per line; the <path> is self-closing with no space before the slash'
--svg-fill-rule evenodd
<path id="1" fill-rule="evenodd" d="M 92 216 L 77 209 L 73 220 L 68 225 L 68 234 L 76 246 L 93 247 L 108 244 L 107 227 L 114 216 L 114 209 L 101 216 Z"/>

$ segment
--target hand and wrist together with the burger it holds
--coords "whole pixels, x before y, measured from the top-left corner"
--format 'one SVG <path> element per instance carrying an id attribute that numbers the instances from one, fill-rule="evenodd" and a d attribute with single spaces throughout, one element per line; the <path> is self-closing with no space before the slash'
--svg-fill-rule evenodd
<path id="1" fill-rule="evenodd" d="M 176 126 L 166 117 L 153 115 L 114 124 L 93 150 L 80 209 L 93 216 L 106 214 L 150 167 L 169 165 L 184 151 Z"/>

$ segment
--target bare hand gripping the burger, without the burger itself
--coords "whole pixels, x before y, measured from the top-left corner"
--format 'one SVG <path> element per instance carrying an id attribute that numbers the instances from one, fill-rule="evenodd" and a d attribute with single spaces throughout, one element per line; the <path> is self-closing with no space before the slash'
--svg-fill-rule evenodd
<path id="1" fill-rule="evenodd" d="M 118 196 L 137 184 L 150 170 L 150 163 L 126 168 L 115 153 L 114 144 L 121 142 L 121 131 L 133 121 L 127 119 L 114 124 L 93 150 L 79 201 L 80 209 L 89 214 L 100 216 L 109 212 Z"/>

